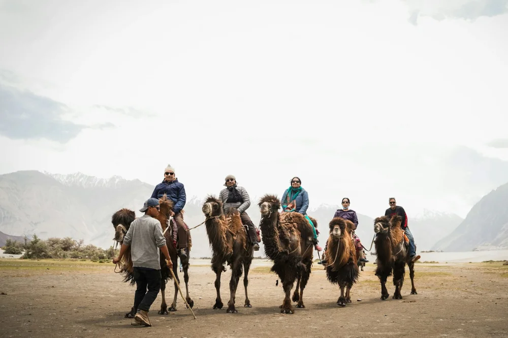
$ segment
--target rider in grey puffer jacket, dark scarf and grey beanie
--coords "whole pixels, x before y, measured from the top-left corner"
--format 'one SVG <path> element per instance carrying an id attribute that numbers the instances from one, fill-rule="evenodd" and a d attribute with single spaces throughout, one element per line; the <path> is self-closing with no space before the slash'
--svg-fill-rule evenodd
<path id="1" fill-rule="evenodd" d="M 224 185 L 226 188 L 220 190 L 219 196 L 223 202 L 224 213 L 227 214 L 231 208 L 235 208 L 240 213 L 242 224 L 246 225 L 249 229 L 249 240 L 255 251 L 259 250 L 258 235 L 256 227 L 249 215 L 245 212 L 250 207 L 250 197 L 244 187 L 236 184 L 236 178 L 233 175 L 226 176 Z"/>

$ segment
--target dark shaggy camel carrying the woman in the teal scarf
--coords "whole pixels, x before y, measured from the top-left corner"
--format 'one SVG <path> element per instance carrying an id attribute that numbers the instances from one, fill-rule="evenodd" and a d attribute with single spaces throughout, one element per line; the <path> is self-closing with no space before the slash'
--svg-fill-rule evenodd
<path id="1" fill-rule="evenodd" d="M 280 312 L 293 314 L 290 295 L 296 279 L 298 281 L 292 300 L 297 302 L 297 308 L 305 308 L 303 289 L 309 280 L 312 266 L 312 228 L 300 213 L 279 214 L 280 201 L 276 195 L 263 196 L 259 207 L 265 254 L 273 260 L 271 271 L 278 275 L 285 292 Z M 317 227 L 317 221 L 309 218 Z"/>

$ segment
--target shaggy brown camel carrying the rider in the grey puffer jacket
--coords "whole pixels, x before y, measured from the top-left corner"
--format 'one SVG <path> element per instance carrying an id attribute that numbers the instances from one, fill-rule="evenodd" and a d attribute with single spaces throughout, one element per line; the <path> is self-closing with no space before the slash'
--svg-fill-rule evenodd
<path id="1" fill-rule="evenodd" d="M 238 210 L 231 208 L 228 214 L 223 211 L 223 202 L 214 196 L 208 196 L 203 204 L 203 214 L 206 216 L 205 226 L 208 241 L 212 249 L 211 268 L 215 273 L 215 289 L 217 298 L 213 309 L 222 309 L 220 299 L 220 275 L 226 272 L 224 267 L 228 263 L 231 268 L 229 282 L 230 299 L 227 313 L 238 313 L 235 309 L 235 296 L 238 282 L 244 269 L 243 286 L 245 287 L 245 308 L 251 308 L 247 294 L 248 273 L 253 257 L 253 246 L 247 240 L 247 232 L 240 219 Z"/>

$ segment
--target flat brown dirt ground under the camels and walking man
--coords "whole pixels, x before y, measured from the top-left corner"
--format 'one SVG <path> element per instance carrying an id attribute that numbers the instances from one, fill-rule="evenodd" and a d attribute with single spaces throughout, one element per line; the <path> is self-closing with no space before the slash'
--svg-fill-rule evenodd
<path id="1" fill-rule="evenodd" d="M 240 280 L 238 314 L 227 314 L 227 306 L 212 310 L 215 275 L 205 260 L 191 264 L 189 287 L 197 319 L 180 296 L 177 312 L 158 315 L 159 294 L 150 309 L 153 326 L 134 327 L 123 315 L 132 306 L 135 288 L 121 282 L 113 264 L 0 260 L 0 337 L 508 336 L 508 266 L 499 262 L 416 264 L 418 295 L 409 294 L 406 268 L 403 299 L 390 296 L 385 301 L 379 299 L 380 285 L 370 262 L 345 308 L 336 305 L 338 287 L 314 263 L 304 292 L 306 308 L 295 308 L 293 315 L 279 313 L 283 292 L 280 283 L 275 286 L 269 261 L 253 262 L 248 289 L 252 308 L 243 308 Z M 230 276 L 228 271 L 222 279 L 225 304 Z M 170 298 L 172 290 L 171 284 Z M 390 295 L 393 291 L 390 284 Z"/>

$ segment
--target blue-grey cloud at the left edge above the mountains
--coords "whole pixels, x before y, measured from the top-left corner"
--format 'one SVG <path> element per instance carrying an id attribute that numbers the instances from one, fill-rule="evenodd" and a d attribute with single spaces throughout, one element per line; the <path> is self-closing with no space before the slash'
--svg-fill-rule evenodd
<path id="1" fill-rule="evenodd" d="M 0 134 L 13 140 L 47 139 L 67 143 L 84 128 L 107 128 L 112 124 L 86 126 L 63 120 L 70 109 L 48 97 L 0 84 Z"/>

